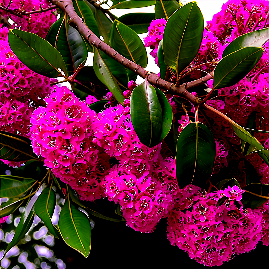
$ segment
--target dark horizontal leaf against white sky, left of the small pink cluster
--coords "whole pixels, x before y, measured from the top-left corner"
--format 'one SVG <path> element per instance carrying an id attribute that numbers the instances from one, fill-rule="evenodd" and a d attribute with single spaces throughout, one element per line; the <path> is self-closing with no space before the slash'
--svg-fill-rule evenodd
<path id="1" fill-rule="evenodd" d="M 118 21 L 134 30 L 137 34 L 143 34 L 148 32 L 148 27 L 154 19 L 154 13 L 128 13 L 119 17 Z"/>

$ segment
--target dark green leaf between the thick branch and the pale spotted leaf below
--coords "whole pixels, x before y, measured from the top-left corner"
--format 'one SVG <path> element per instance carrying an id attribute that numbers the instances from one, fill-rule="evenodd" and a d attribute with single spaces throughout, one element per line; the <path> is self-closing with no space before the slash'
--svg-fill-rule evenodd
<path id="1" fill-rule="evenodd" d="M 99 54 L 101 58 L 104 60 L 105 65 L 107 66 L 113 77 L 115 77 L 115 79 L 119 83 L 121 83 L 123 86 L 127 88 L 129 79 L 126 68 L 120 63 L 116 62 L 111 57 L 109 57 L 107 54 L 102 52 L 101 50 L 99 50 Z"/>

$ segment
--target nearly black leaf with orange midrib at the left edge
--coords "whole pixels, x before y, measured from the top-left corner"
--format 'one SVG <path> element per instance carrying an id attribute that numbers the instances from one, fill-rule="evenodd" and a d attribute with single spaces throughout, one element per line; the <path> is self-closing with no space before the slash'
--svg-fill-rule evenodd
<path id="1" fill-rule="evenodd" d="M 21 135 L 11 134 L 6 131 L 0 132 L 1 159 L 22 162 L 28 160 L 39 160 L 33 153 L 31 140 Z"/>

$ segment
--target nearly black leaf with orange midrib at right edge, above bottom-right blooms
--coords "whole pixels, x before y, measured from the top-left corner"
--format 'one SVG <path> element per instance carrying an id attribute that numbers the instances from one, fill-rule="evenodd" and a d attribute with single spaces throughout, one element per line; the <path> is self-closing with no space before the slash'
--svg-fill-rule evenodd
<path id="1" fill-rule="evenodd" d="M 245 192 L 242 193 L 241 202 L 244 208 L 257 208 L 268 199 L 268 184 L 251 183 L 246 185 Z"/>

